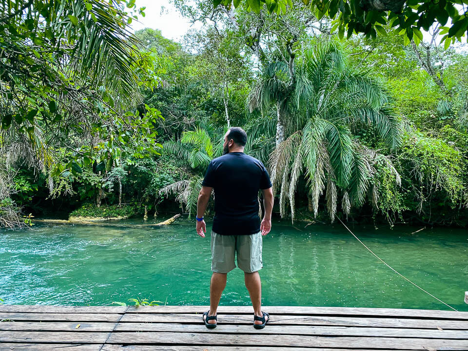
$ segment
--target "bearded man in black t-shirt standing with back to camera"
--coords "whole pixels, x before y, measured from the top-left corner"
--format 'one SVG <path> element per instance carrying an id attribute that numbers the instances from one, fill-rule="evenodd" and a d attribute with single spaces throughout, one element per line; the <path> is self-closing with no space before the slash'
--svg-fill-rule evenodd
<path id="1" fill-rule="evenodd" d="M 211 232 L 213 275 L 210 310 L 203 314 L 207 328 L 216 327 L 216 311 L 226 287 L 227 273 L 237 266 L 244 271 L 245 286 L 254 306 L 254 328 L 265 327 L 270 316 L 261 309 L 262 236 L 272 227 L 273 189 L 263 163 L 244 154 L 247 134 L 232 127 L 224 136 L 223 156 L 213 159 L 206 171 L 196 211 L 196 233 L 205 237 L 203 220 L 212 189 L 215 189 L 215 218 Z M 263 192 L 265 215 L 260 223 L 258 191 Z"/>

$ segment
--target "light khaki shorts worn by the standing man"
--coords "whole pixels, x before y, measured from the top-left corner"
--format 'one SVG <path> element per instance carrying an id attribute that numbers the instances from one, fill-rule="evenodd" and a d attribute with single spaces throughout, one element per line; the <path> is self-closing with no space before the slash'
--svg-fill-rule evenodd
<path id="1" fill-rule="evenodd" d="M 228 273 L 235 268 L 234 257 L 237 253 L 237 267 L 246 273 L 263 268 L 262 233 L 250 235 L 220 235 L 211 231 L 211 270 Z"/>

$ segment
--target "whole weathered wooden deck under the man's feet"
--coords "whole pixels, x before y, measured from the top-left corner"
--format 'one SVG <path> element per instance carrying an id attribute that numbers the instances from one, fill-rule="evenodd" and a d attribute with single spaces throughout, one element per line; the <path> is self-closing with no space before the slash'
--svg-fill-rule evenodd
<path id="1" fill-rule="evenodd" d="M 0 350 L 283 351 L 468 350 L 468 312 L 341 307 L 220 307 L 205 328 L 206 306 L 0 305 Z"/>

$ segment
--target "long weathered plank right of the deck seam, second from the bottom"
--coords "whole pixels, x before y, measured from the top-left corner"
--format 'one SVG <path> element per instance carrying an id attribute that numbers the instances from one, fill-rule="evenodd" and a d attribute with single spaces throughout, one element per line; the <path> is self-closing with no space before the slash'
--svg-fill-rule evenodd
<path id="1" fill-rule="evenodd" d="M 20 331 L 21 332 L 21 331 Z M 34 332 L 30 332 L 34 333 Z M 39 334 L 44 334 L 40 333 Z M 75 333 L 83 335 L 80 333 Z M 291 347 L 329 347 L 329 348 L 378 348 L 427 350 L 454 348 L 468 349 L 468 340 L 456 339 L 416 339 L 385 337 L 336 337 L 293 335 L 245 335 L 212 333 L 177 333 L 177 332 L 117 332 L 109 336 L 106 344 L 182 344 L 182 345 L 237 345 L 237 346 L 291 346 Z"/>

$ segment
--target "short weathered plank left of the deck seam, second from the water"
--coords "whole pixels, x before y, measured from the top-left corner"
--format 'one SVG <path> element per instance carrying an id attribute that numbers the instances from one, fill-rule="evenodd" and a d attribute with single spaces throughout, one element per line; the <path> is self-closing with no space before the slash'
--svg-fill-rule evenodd
<path id="1" fill-rule="evenodd" d="M 122 314 L 117 313 L 16 313 L 2 312 L 0 320 L 13 321 L 77 321 L 77 322 L 117 322 Z"/>

